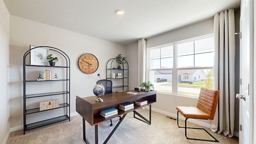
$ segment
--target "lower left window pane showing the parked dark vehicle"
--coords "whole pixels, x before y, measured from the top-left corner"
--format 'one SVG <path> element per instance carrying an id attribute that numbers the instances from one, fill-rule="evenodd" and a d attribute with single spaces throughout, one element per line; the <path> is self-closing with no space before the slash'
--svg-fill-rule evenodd
<path id="1" fill-rule="evenodd" d="M 154 90 L 172 93 L 172 70 L 151 71 L 150 82 L 154 81 Z"/>

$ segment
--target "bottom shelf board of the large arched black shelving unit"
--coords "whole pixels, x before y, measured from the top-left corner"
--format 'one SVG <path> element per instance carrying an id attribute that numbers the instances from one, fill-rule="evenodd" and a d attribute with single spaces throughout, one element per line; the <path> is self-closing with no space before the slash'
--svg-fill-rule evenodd
<path id="1" fill-rule="evenodd" d="M 68 115 L 64 115 L 64 116 L 59 116 L 59 117 L 48 119 L 48 120 L 43 120 L 43 121 L 40 121 L 40 122 L 35 122 L 35 123 L 32 123 L 32 124 L 27 124 L 26 125 L 26 130 L 32 130 L 34 128 L 39 128 L 41 126 L 46 126 L 46 125 L 49 125 L 49 124 L 53 124 L 53 123 L 60 122 L 60 121 L 63 121 L 63 120 L 68 120 L 68 119 L 70 119 L 70 117 Z"/>

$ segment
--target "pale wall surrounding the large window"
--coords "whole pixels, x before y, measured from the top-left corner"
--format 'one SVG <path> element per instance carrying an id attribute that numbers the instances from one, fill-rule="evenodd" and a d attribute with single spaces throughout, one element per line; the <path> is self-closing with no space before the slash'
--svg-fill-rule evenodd
<path id="1" fill-rule="evenodd" d="M 237 28 L 239 30 L 239 16 L 240 16 L 240 12 L 238 10 L 236 12 L 236 30 L 237 30 Z M 203 36 L 206 34 L 212 34 L 214 32 L 214 21 L 213 20 L 214 19 L 211 18 L 209 20 L 198 22 L 196 24 L 192 24 L 192 25 L 186 26 L 184 28 L 180 28 L 180 29 L 177 29 L 177 30 L 174 30 L 171 32 L 167 32 L 165 34 L 161 34 L 159 36 L 155 36 L 152 38 L 146 38 L 146 40 L 147 40 L 146 48 L 152 48 L 154 46 L 160 46 L 163 44 L 178 42 L 180 40 L 186 40 L 189 38 L 195 38 L 195 37 Z M 236 39 L 236 41 L 238 42 L 238 44 L 236 43 L 236 49 L 239 52 L 239 38 L 238 38 L 238 40 Z M 126 46 L 126 49 L 127 49 L 126 50 L 127 57 L 130 57 L 130 56 L 132 57 L 133 54 L 138 55 L 138 42 Z M 128 52 L 128 50 L 133 50 L 133 51 Z M 133 65 L 134 65 L 134 67 L 132 68 L 132 70 L 138 72 L 138 64 L 133 64 Z M 238 61 L 238 65 L 239 65 L 239 61 Z M 239 79 L 239 74 L 236 74 L 236 82 L 237 82 L 237 76 Z M 138 76 L 133 76 L 129 80 L 132 81 L 131 86 L 130 86 L 131 88 L 137 86 Z M 239 85 L 238 85 L 238 89 L 239 89 Z M 198 100 L 197 98 L 189 98 L 189 97 L 176 96 L 176 95 L 171 95 L 171 94 L 157 93 L 156 103 L 152 105 L 152 110 L 161 112 L 161 113 L 169 115 L 169 116 L 176 117 L 176 115 L 177 115 L 176 106 L 196 106 L 197 100 Z M 236 102 L 236 104 L 235 104 L 236 108 L 239 107 L 238 104 L 239 103 Z M 237 114 L 239 113 L 238 109 L 236 109 L 236 113 Z M 202 123 L 200 123 L 200 122 L 202 122 Z M 195 123 L 202 124 L 204 126 L 209 127 L 211 121 L 210 120 L 200 120 L 200 122 L 195 122 Z M 238 124 L 239 124 L 239 115 L 238 115 L 238 117 L 236 115 L 235 125 L 238 126 Z M 235 126 L 235 132 L 238 132 L 237 126 Z"/>

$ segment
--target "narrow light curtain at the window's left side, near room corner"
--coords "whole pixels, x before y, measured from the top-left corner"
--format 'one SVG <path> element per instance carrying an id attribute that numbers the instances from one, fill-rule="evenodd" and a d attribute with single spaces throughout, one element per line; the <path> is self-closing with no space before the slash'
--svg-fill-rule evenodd
<path id="1" fill-rule="evenodd" d="M 138 86 L 146 82 L 146 39 L 138 40 Z"/>

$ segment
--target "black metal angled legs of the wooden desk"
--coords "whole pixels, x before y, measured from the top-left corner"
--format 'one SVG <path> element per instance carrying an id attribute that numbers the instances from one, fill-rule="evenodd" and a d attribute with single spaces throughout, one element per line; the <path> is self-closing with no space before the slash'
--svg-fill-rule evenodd
<path id="1" fill-rule="evenodd" d="M 136 110 L 134 110 L 134 118 L 141 120 L 137 117 L 135 117 L 135 114 L 137 114 L 140 118 L 142 118 L 143 120 L 141 120 L 142 122 L 145 122 L 147 124 L 151 124 L 151 104 L 149 105 L 150 108 L 150 112 L 149 112 L 149 120 L 147 120 L 146 118 L 144 118 L 144 116 L 142 116 L 141 114 L 139 114 L 138 112 L 136 112 Z M 103 142 L 103 144 L 106 144 L 108 142 L 108 140 L 111 138 L 111 136 L 114 134 L 114 132 L 116 131 L 116 129 L 118 128 L 118 126 L 121 124 L 121 122 L 124 120 L 126 114 L 124 114 L 122 116 L 122 118 L 120 118 L 120 121 L 116 124 L 116 126 L 114 127 L 114 129 L 110 132 L 110 134 L 108 135 L 108 137 L 106 138 L 106 140 Z M 145 121 L 144 121 L 145 120 Z M 86 142 L 86 144 L 90 144 L 90 142 L 86 139 L 86 131 L 85 131 L 85 119 L 83 118 L 83 139 L 84 142 Z M 94 126 L 95 129 L 95 144 L 98 144 L 98 124 L 96 124 Z"/>

